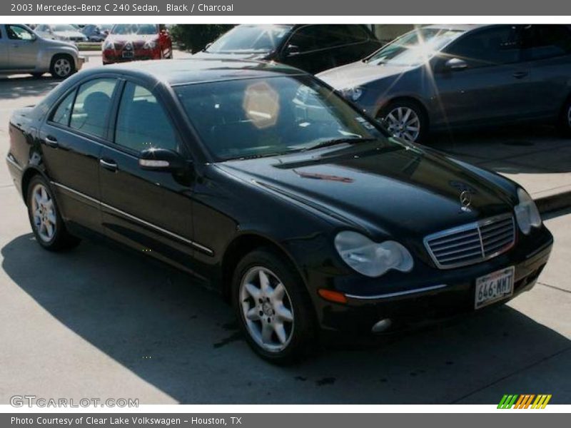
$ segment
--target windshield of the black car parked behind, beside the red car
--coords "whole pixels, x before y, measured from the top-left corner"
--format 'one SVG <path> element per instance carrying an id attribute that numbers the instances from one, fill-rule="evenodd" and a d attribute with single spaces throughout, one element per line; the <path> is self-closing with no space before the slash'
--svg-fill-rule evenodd
<path id="1" fill-rule="evenodd" d="M 208 46 L 206 52 L 228 54 L 273 51 L 289 34 L 291 28 L 285 25 L 239 25 Z"/>

